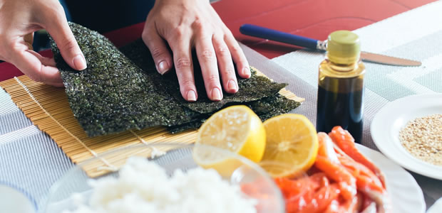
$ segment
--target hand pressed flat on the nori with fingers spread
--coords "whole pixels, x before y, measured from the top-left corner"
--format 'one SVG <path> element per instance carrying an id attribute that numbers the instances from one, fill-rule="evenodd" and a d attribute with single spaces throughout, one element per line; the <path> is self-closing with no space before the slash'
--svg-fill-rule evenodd
<path id="1" fill-rule="evenodd" d="M 238 91 L 232 59 L 240 77 L 251 75 L 240 45 L 208 0 L 155 1 L 145 22 L 143 40 L 161 75 L 175 65 L 181 95 L 189 102 L 195 102 L 198 95 L 192 65 L 194 47 L 207 97 L 212 101 L 222 99 L 220 75 L 226 92 Z"/>

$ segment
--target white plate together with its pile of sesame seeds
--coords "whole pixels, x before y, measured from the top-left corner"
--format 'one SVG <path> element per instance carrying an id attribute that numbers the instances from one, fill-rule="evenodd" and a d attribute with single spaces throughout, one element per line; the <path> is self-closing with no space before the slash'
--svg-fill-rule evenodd
<path id="1" fill-rule="evenodd" d="M 371 137 L 402 167 L 442 180 L 442 94 L 417 94 L 389 102 L 371 121 Z"/>

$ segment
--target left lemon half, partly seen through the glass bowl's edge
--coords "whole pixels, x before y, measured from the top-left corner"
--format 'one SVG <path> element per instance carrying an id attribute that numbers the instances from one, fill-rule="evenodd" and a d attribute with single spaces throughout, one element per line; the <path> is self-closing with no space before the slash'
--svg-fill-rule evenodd
<path id="1" fill-rule="evenodd" d="M 235 160 L 198 149 L 198 145 L 208 145 L 259 162 L 264 154 L 265 136 L 262 121 L 252 109 L 242 105 L 227 107 L 202 124 L 198 130 L 193 156 L 195 162 L 204 168 L 227 168 L 227 165 L 234 167 L 235 163 L 232 162 Z"/>

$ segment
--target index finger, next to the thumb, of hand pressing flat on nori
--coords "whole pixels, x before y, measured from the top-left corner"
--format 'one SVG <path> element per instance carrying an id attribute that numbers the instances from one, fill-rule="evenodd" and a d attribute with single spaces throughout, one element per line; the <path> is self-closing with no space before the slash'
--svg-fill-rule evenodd
<path id="1" fill-rule="evenodd" d="M 187 102 L 196 102 L 198 94 L 193 75 L 190 38 L 175 40 L 175 42 L 170 43 L 170 48 L 173 51 L 173 61 L 181 95 Z"/>

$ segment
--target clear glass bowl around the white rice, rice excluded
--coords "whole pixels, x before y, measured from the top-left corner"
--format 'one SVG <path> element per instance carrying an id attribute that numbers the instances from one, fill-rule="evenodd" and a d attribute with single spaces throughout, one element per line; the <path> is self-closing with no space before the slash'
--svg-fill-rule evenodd
<path id="1" fill-rule="evenodd" d="M 155 156 L 155 153 L 158 153 L 158 151 L 167 152 L 164 155 Z M 138 144 L 118 148 L 100 154 L 97 158 L 79 163 L 68 170 L 68 172 L 51 187 L 46 197 L 46 205 L 41 209 L 41 212 L 60 213 L 66 209 L 73 211 L 77 207 L 76 202 L 78 202 L 78 200 L 76 201 L 76 196 L 73 195 L 83 195 L 82 197 L 86 198 L 86 202 L 88 197 L 91 196 L 92 188 L 88 185 L 88 180 L 97 180 L 109 175 L 118 177 L 118 171 L 106 173 L 106 175 L 101 175 L 98 178 L 88 177 L 83 168 L 97 167 L 98 162 L 103 162 L 102 159 L 112 160 L 122 158 L 122 156 L 127 156 L 128 153 L 130 153 L 131 155 L 142 156 L 145 160 L 157 163 L 165 169 L 168 175 L 172 175 L 177 169 L 185 172 L 190 168 L 199 167 L 199 165 L 195 163 L 194 156 L 192 155 L 195 151 L 199 152 L 199 155 L 204 154 L 205 158 L 228 158 L 235 162 L 228 166 L 229 169 L 227 173 L 226 170 L 224 170 L 220 175 L 232 185 L 240 185 L 242 192 L 244 192 L 247 197 L 255 199 L 257 201 L 256 208 L 258 213 L 284 212 L 284 198 L 282 197 L 279 187 L 277 187 L 272 178 L 256 163 L 230 151 L 213 146 L 173 143 Z M 153 158 L 151 154 L 154 155 Z M 127 159 L 123 158 L 121 164 L 124 164 L 125 160 Z M 216 191 L 212 193 L 216 193 Z"/>

